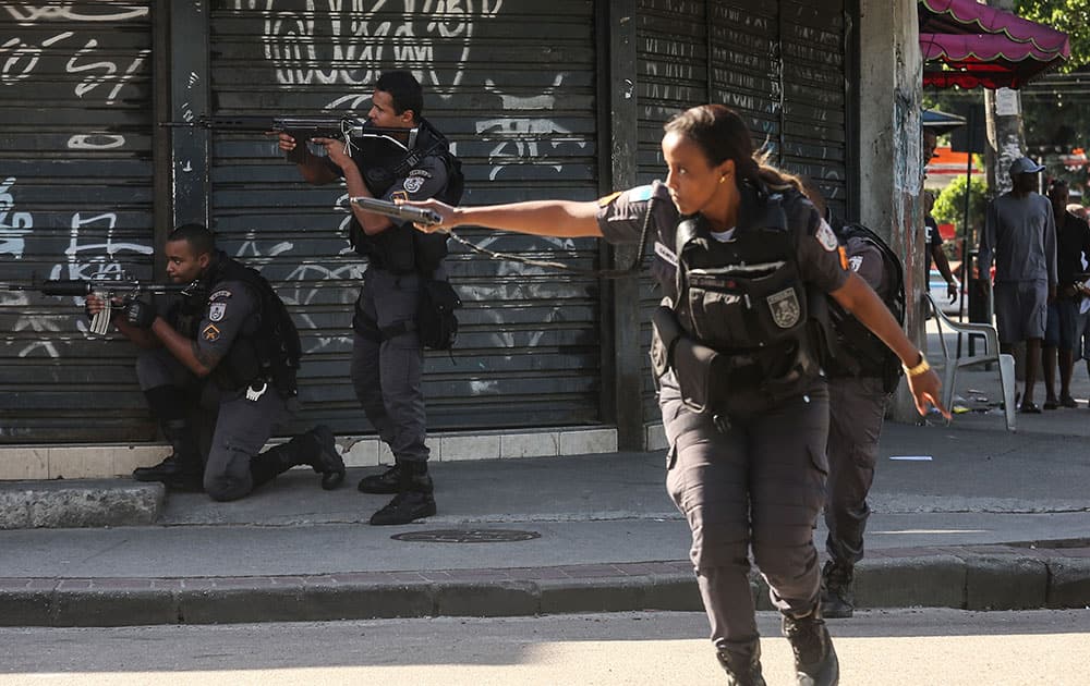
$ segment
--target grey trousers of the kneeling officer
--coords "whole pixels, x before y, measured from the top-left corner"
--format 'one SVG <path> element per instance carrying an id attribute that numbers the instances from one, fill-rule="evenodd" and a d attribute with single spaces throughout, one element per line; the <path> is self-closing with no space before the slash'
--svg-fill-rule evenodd
<path id="1" fill-rule="evenodd" d="M 205 456 L 204 489 L 213 500 L 238 500 L 246 495 L 256 486 L 252 461 L 261 457 L 276 465 L 280 463 L 279 453 L 291 450 L 277 445 L 262 453 L 276 429 L 289 421 L 294 413 L 271 385 L 257 401 L 246 400 L 245 390 L 227 392 L 210 381 L 202 382 L 164 348 L 140 354 L 136 378 L 144 391 L 174 385 L 199 399 L 187 414 L 193 440 L 201 445 Z"/>

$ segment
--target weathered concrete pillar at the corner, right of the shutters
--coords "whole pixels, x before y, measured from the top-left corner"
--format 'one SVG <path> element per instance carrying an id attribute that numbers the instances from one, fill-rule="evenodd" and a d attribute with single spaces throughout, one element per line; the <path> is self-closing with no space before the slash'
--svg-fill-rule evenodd
<path id="1" fill-rule="evenodd" d="M 922 344 L 921 305 L 928 279 L 921 201 L 923 60 L 917 3 L 860 0 L 859 9 L 860 219 L 882 234 L 905 262 L 905 329 Z M 893 417 L 918 419 L 905 383 Z"/>

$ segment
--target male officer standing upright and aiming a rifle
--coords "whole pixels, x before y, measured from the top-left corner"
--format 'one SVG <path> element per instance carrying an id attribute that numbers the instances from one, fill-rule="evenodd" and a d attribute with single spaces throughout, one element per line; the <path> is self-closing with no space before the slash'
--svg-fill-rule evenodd
<path id="1" fill-rule="evenodd" d="M 382 138 L 374 138 L 376 145 L 364 137 L 354 142 L 355 149 L 346 150 L 340 140 L 315 138 L 326 156 L 307 151 L 296 162 L 300 173 L 313 184 L 342 177 L 351 197 L 440 197 L 457 203 L 457 162 L 446 138 L 421 117 L 423 105 L 420 83 L 410 72 L 384 73 L 375 84 L 368 124 L 403 131 L 396 134 L 402 145 L 382 145 Z M 290 154 L 300 143 L 281 133 L 279 145 Z M 359 490 L 395 494 L 371 524 L 408 524 L 436 512 L 427 474 L 423 351 L 415 320 L 422 279 L 446 278 L 446 242 L 422 242 L 410 223 L 395 223 L 355 205 L 352 212 L 352 245 L 368 260 L 352 320 L 352 383 L 367 419 L 395 457 L 391 468 L 365 477 Z"/>

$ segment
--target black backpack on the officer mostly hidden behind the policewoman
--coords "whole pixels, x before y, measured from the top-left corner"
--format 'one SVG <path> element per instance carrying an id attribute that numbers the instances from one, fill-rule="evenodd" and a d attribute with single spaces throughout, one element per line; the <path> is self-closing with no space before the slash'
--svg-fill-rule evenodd
<path id="1" fill-rule="evenodd" d="M 852 246 L 870 245 L 882 254 L 883 279 L 887 285 L 883 302 L 897 323 L 904 326 L 905 268 L 900 258 L 882 236 L 862 224 L 844 224 L 835 230 L 849 260 L 852 257 Z M 836 335 L 832 358 L 826 364 L 829 376 L 879 377 L 884 390 L 892 393 L 903 373 L 900 359 L 870 329 L 840 307 L 839 303 L 833 298 L 828 301 L 829 317 Z"/>

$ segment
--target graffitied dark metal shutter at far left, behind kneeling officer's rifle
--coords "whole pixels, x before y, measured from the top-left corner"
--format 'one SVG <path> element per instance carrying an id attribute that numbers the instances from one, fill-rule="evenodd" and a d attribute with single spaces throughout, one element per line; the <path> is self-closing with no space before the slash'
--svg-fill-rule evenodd
<path id="1" fill-rule="evenodd" d="M 150 14 L 0 8 L 0 281 L 150 277 Z M 154 436 L 133 348 L 86 333 L 81 303 L 0 292 L 0 442 Z"/>

